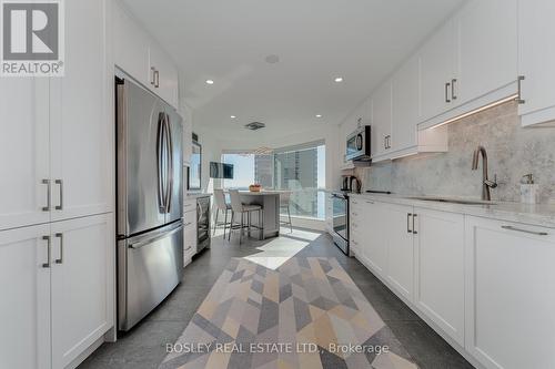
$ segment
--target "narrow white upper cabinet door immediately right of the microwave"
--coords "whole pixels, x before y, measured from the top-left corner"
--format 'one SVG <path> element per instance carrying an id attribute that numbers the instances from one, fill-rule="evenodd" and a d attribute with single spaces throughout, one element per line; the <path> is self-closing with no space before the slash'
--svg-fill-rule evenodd
<path id="1" fill-rule="evenodd" d="M 392 147 L 392 83 L 382 84 L 372 95 L 372 158 L 379 161 Z"/>

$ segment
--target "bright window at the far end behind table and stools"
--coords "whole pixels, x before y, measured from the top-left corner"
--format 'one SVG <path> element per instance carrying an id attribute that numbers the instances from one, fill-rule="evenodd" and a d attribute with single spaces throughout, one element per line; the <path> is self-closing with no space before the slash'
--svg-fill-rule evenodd
<path id="1" fill-rule="evenodd" d="M 323 142 L 275 150 L 271 155 L 224 153 L 222 162 L 233 164 L 234 178 L 223 180 L 223 188 L 248 189 L 259 183 L 263 188 L 292 191 L 292 216 L 325 217 L 325 145 Z M 286 214 L 283 208 L 282 213 Z"/>

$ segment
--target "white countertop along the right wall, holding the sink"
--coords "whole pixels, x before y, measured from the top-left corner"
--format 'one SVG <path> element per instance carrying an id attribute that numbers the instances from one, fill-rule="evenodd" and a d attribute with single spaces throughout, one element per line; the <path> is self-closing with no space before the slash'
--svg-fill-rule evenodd
<path id="1" fill-rule="evenodd" d="M 422 201 L 411 198 L 411 195 L 385 195 L 385 194 L 350 194 L 353 198 L 369 198 L 384 203 L 393 203 L 401 205 L 418 206 L 442 212 L 458 213 L 472 216 L 482 216 L 506 222 L 525 223 L 529 225 L 544 226 L 555 228 L 555 204 L 522 204 L 509 202 L 493 201 L 492 204 L 468 205 L 454 204 L 434 201 Z M 426 197 L 426 196 L 418 196 Z M 428 196 L 443 197 L 443 196 Z M 448 198 L 457 198 L 455 196 L 445 196 Z M 462 198 L 461 199 L 468 199 Z M 475 199 L 473 199 L 475 201 Z"/>

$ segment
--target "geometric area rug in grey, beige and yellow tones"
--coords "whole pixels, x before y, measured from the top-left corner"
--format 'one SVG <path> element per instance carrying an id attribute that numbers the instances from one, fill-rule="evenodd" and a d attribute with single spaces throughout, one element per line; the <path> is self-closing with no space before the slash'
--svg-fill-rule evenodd
<path id="1" fill-rule="evenodd" d="M 335 258 L 233 258 L 161 369 L 417 368 Z"/>

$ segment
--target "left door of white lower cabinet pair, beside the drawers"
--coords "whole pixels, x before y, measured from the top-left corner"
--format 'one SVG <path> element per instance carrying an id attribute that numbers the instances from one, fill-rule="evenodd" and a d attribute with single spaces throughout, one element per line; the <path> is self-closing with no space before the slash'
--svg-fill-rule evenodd
<path id="1" fill-rule="evenodd" d="M 397 204 L 384 204 L 381 216 L 386 219 L 387 269 L 390 285 L 407 300 L 414 295 L 414 243 L 413 207 Z"/>

